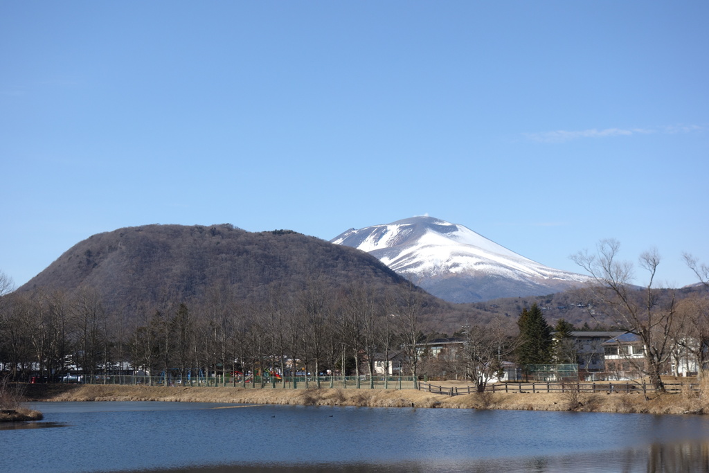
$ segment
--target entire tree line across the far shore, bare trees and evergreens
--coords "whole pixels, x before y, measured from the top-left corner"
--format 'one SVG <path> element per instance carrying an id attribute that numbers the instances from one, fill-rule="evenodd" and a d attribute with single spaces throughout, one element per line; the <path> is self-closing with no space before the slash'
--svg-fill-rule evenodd
<path id="1" fill-rule="evenodd" d="M 707 291 L 687 296 L 654 286 L 657 252 L 641 255 L 649 278 L 636 286 L 633 265 L 620 261 L 618 251 L 615 240 L 606 240 L 596 254 L 575 255 L 595 278 L 595 284 L 579 289 L 579 298 L 593 301 L 594 310 L 612 317 L 615 328 L 642 340 L 642 374 L 657 391 L 664 389 L 661 374 L 679 352 L 691 355 L 702 374 L 709 361 Z M 707 289 L 707 267 L 685 258 Z M 314 278 L 298 291 L 272 284 L 259 301 L 245 301 L 222 285 L 211 286 L 199 303 L 167 302 L 124 313 L 106 309 L 91 287 L 18 293 L 0 273 L 0 364 L 13 379 L 30 374 L 56 379 L 70 366 L 91 377 L 129 368 L 178 377 L 290 370 L 359 379 L 374 374 L 375 360 L 396 353 L 414 378 L 455 376 L 474 381 L 481 391 L 501 373 L 504 361 L 576 362 L 574 326 L 562 319 L 552 328 L 537 304 L 522 308 L 516 324 L 503 318 L 466 323 L 454 334 L 464 339 L 462 349 L 427 356 L 426 340 L 445 335 L 423 332 L 429 310 L 428 294 L 413 284 L 374 289 L 352 282 L 333 289 Z M 289 360 L 297 365 L 289 366 Z"/>

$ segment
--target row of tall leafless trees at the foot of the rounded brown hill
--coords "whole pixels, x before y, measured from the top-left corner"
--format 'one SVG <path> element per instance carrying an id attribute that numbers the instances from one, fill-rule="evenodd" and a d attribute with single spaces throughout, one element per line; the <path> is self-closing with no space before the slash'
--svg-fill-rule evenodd
<path id="1" fill-rule="evenodd" d="M 174 376 L 359 375 L 372 374 L 374 360 L 396 351 L 411 375 L 418 374 L 423 291 L 408 284 L 375 294 L 353 283 L 330 294 L 326 287 L 317 279 L 295 294 L 274 286 L 259 303 L 213 287 L 199 306 L 147 308 L 138 316 L 106 311 L 101 295 L 86 287 L 72 294 L 12 292 L 0 297 L 0 363 L 13 378 L 51 379 L 69 369 L 99 377 L 126 367 Z"/>

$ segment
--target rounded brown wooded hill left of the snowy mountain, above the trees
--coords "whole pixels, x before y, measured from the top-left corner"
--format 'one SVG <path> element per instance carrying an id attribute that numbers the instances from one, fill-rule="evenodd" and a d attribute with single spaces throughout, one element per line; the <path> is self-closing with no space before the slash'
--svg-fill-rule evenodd
<path id="1" fill-rule="evenodd" d="M 367 253 L 291 230 L 147 225 L 92 235 L 18 292 L 91 287 L 109 310 L 133 311 L 183 301 L 199 304 L 211 288 L 259 301 L 274 286 L 287 294 L 302 289 L 308 279 L 320 279 L 330 289 L 350 282 L 375 289 L 408 284 Z"/>

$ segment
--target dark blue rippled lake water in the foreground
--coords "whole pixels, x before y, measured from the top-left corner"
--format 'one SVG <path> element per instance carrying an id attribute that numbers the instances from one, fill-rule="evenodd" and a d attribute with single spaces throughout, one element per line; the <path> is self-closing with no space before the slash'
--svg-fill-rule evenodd
<path id="1" fill-rule="evenodd" d="M 0 424 L 1 472 L 709 471 L 704 416 L 169 402 L 31 407 L 45 413 L 43 422 Z"/>

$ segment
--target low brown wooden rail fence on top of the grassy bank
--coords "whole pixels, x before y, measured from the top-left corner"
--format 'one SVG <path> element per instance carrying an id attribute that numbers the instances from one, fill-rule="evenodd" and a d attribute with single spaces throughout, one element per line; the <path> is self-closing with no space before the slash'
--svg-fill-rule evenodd
<path id="1" fill-rule="evenodd" d="M 669 393 L 679 393 L 685 390 L 699 391 L 699 384 L 691 383 L 665 383 L 665 389 Z M 646 389 L 652 390 L 652 386 L 645 385 Z M 459 396 L 462 394 L 474 394 L 475 386 L 435 386 L 430 383 L 419 383 L 421 391 L 428 391 L 434 394 L 445 394 L 446 396 Z M 566 391 L 578 391 L 582 393 L 642 393 L 642 384 L 619 383 L 619 382 L 593 382 L 593 383 L 493 383 L 486 386 L 485 391 L 493 393 L 563 393 Z"/>

